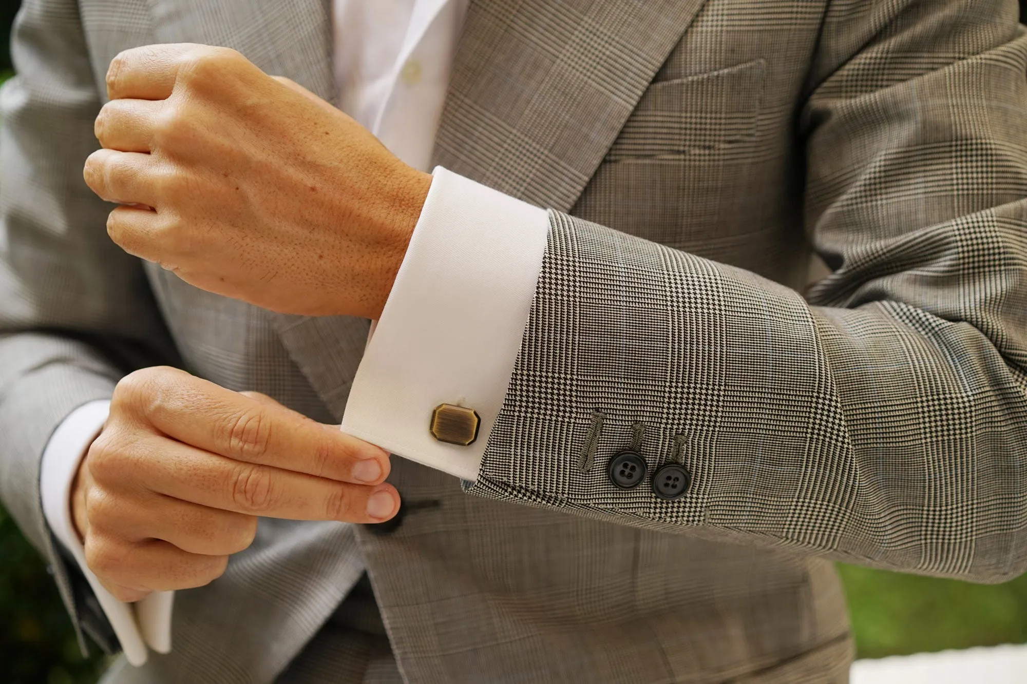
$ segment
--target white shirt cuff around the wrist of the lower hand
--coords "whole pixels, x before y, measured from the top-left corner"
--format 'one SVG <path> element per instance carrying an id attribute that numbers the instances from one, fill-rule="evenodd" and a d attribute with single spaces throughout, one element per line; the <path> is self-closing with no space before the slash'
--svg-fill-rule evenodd
<path id="1" fill-rule="evenodd" d="M 114 598 L 85 564 L 85 549 L 71 519 L 71 486 L 89 445 L 110 412 L 108 401 L 78 407 L 53 431 L 40 464 L 39 488 L 43 517 L 53 536 L 75 557 L 108 621 L 134 666 L 146 662 L 147 646 L 158 653 L 172 650 L 172 609 L 175 592 L 154 592 L 136 603 Z"/>

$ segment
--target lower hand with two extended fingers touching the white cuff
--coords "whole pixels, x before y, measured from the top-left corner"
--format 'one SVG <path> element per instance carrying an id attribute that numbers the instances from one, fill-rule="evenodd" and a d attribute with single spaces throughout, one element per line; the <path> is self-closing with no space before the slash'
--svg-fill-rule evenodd
<path id="1" fill-rule="evenodd" d="M 400 497 L 388 453 L 268 396 L 173 368 L 126 376 L 79 466 L 72 518 L 89 569 L 121 601 L 202 586 L 257 517 L 380 523 Z"/>

